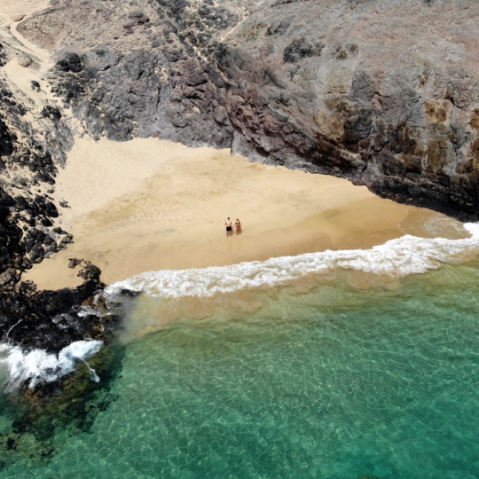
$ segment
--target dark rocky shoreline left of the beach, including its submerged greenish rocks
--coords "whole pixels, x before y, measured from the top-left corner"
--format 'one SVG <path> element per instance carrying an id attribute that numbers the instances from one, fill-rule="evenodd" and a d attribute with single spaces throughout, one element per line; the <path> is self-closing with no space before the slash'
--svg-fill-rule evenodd
<path id="1" fill-rule="evenodd" d="M 0 66 L 12 58 L 12 46 L 0 46 Z M 31 85 L 32 90 L 38 84 Z M 52 451 L 51 435 L 59 425 L 88 428 L 96 413 L 111 400 L 109 384 L 120 370 L 122 348 L 114 343 L 121 317 L 107 310 L 99 269 L 72 261 L 83 279 L 80 287 L 37 291 L 22 273 L 67 247 L 73 237 L 56 225 L 59 208 L 51 193 L 58 167 L 72 141 L 56 106 L 37 106 L 0 78 L 0 346 L 9 362 L 12 348 L 23 355 L 39 351 L 59 357 L 75 342 L 102 342 L 89 358 L 101 381 L 92 381 L 90 367 L 74 359 L 75 371 L 49 371 L 48 381 L 35 367 L 19 373 L 22 382 L 6 388 L 2 402 L 15 418 L 11 432 L 0 434 L 0 470 L 15 457 L 43 458 Z M 11 361 L 10 361 L 11 362 Z M 30 365 L 32 366 L 32 365 Z M 19 365 L 15 366 L 17 369 Z M 28 365 L 22 366 L 28 367 Z M 12 372 L 11 372 L 12 373 Z M 33 374 L 33 375 L 32 375 Z M 52 378 L 57 378 L 52 381 Z M 18 378 L 16 378 L 18 380 Z M 30 387 L 35 383 L 34 387 Z M 4 387 L 4 385 L 3 385 Z M 98 396 L 99 395 L 99 396 Z M 99 397 L 99 399 L 98 399 Z M 92 405 L 95 404 L 95 405 Z"/>

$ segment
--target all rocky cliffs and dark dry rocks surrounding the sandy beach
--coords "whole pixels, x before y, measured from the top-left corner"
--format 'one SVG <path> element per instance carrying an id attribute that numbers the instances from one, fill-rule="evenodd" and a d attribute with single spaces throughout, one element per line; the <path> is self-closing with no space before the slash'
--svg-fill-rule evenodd
<path id="1" fill-rule="evenodd" d="M 56 100 L 29 102 L 0 77 L 2 341 L 58 353 L 118 325 L 76 315 L 104 287 L 92 265 L 76 289 L 21 280 L 73 241 L 51 193 L 75 135 L 227 146 L 477 220 L 477 15 L 460 0 L 61 0 L 20 21 L 55 58 L 31 89 Z M 35 67 L 2 43 L 0 68 L 14 59 Z"/>

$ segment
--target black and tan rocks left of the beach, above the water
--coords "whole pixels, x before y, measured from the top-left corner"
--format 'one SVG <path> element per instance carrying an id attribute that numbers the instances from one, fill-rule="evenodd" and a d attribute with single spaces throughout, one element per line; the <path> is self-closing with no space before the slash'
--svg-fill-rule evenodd
<path id="1" fill-rule="evenodd" d="M 18 55 L 2 46 L 0 66 L 10 58 Z M 36 292 L 21 281 L 23 271 L 72 242 L 54 224 L 59 210 L 50 196 L 73 138 L 60 119 L 57 107 L 38 111 L 0 76 L 0 342 L 51 353 L 84 338 L 109 341 L 118 319 L 93 304 L 104 287 L 93 265 L 83 265 L 75 289 Z"/>

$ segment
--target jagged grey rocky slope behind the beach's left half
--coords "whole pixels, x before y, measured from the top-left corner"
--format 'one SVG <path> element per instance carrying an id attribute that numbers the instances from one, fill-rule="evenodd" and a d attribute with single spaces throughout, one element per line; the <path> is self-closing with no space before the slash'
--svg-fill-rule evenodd
<path id="1" fill-rule="evenodd" d="M 67 0 L 19 30 L 58 51 L 51 90 L 91 136 L 231 145 L 224 80 L 161 5 Z"/>

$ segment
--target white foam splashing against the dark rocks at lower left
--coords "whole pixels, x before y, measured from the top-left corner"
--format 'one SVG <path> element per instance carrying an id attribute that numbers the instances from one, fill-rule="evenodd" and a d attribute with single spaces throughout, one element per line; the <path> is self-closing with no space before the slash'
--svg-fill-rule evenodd
<path id="1" fill-rule="evenodd" d="M 74 371 L 76 361 L 93 356 L 102 346 L 101 341 L 72 342 L 57 356 L 43 349 L 23 351 L 18 346 L 0 344 L 0 365 L 6 370 L 7 389 L 17 389 L 24 383 L 35 388 L 37 384 L 56 381 Z M 94 370 L 90 369 L 90 373 L 94 381 L 99 381 Z"/>

